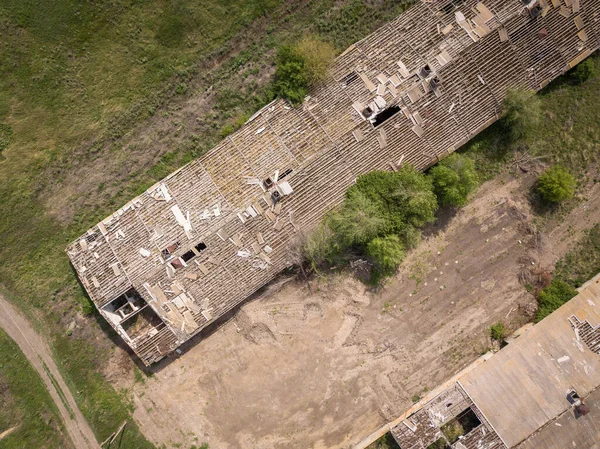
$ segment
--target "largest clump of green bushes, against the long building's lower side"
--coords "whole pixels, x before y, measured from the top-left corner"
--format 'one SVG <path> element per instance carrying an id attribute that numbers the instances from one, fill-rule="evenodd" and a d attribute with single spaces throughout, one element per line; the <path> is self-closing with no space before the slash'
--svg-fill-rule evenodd
<path id="1" fill-rule="evenodd" d="M 372 281 L 379 281 L 393 274 L 406 247 L 416 246 L 420 228 L 434 221 L 437 207 L 431 180 L 411 166 L 360 176 L 342 205 L 304 242 L 304 260 L 315 269 L 352 249 L 373 261 Z"/>

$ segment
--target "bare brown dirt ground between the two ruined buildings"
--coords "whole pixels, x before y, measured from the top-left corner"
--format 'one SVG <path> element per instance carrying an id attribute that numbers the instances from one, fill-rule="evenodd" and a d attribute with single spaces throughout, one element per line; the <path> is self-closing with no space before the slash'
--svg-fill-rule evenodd
<path id="1" fill-rule="evenodd" d="M 358 442 L 489 350 L 491 324 L 515 329 L 529 321 L 535 300 L 520 274 L 553 267 L 598 221 L 600 195 L 591 185 L 573 210 L 545 223 L 547 234 L 534 232 L 525 198 L 534 178 L 484 184 L 379 291 L 348 274 L 313 279 L 310 287 L 279 279 L 134 384 L 142 432 L 169 448 Z M 122 386 L 133 384 L 131 370 L 111 371 Z"/>

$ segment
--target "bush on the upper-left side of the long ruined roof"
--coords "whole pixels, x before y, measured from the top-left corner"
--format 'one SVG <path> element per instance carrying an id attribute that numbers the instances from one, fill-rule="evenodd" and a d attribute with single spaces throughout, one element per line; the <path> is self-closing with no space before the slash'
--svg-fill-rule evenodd
<path id="1" fill-rule="evenodd" d="M 334 57 L 333 46 L 314 37 L 305 37 L 293 47 L 280 47 L 273 82 L 275 93 L 294 105 L 302 103 L 308 89 L 327 76 Z"/>

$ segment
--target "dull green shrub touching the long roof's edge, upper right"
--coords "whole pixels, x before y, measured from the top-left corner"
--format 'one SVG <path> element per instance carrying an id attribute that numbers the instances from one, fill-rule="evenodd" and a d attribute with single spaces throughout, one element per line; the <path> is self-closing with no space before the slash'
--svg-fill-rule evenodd
<path id="1" fill-rule="evenodd" d="M 503 122 L 506 136 L 519 140 L 533 134 L 542 117 L 539 98 L 532 90 L 511 89 L 502 102 Z"/>

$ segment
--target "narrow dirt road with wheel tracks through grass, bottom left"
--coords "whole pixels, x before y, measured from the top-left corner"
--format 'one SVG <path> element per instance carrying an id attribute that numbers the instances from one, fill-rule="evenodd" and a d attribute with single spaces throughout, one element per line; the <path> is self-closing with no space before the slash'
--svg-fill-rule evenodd
<path id="1" fill-rule="evenodd" d="M 19 345 L 40 374 L 63 417 L 73 446 L 77 449 L 100 449 L 92 429 L 77 407 L 44 340 L 2 295 L 0 295 L 0 326 Z"/>

